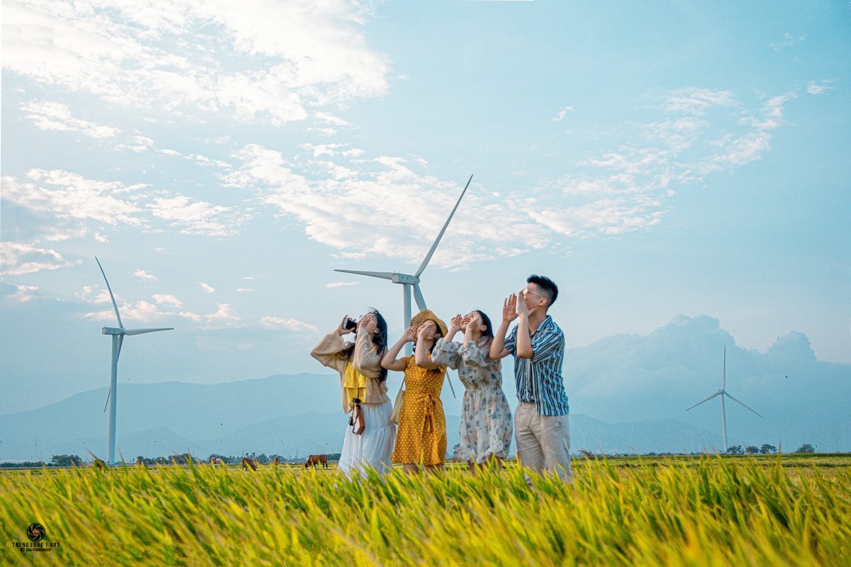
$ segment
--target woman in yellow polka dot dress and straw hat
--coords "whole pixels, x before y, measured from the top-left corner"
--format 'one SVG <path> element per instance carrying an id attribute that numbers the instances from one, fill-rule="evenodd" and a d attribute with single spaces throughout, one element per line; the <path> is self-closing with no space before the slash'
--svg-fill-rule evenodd
<path id="1" fill-rule="evenodd" d="M 389 349 L 381 366 L 405 372 L 405 398 L 399 417 L 396 446 L 391 456 L 401 462 L 406 473 L 443 470 L 446 459 L 446 417 L 440 401 L 446 366 L 431 361 L 431 351 L 439 337 L 446 336 L 446 324 L 430 310 L 420 311 L 402 338 Z M 406 343 L 414 341 L 414 354 L 397 359 Z"/>

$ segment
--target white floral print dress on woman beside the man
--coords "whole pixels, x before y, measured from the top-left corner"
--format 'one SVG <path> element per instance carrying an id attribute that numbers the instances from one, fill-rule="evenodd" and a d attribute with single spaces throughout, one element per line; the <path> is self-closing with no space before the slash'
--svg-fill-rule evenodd
<path id="1" fill-rule="evenodd" d="M 482 463 L 491 456 L 506 458 L 511 447 L 511 408 L 502 391 L 499 360 L 488 358 L 490 340 L 478 343 L 437 340 L 432 360 L 458 371 L 464 384 L 461 403 L 460 442 L 455 459 Z"/>

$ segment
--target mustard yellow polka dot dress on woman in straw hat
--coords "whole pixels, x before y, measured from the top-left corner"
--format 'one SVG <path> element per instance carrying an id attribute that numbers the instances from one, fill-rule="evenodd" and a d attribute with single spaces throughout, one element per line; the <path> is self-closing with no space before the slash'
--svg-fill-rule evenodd
<path id="1" fill-rule="evenodd" d="M 393 462 L 443 464 L 446 457 L 446 417 L 440 401 L 446 367 L 420 368 L 414 355 L 406 356 L 405 400 L 399 416 Z"/>

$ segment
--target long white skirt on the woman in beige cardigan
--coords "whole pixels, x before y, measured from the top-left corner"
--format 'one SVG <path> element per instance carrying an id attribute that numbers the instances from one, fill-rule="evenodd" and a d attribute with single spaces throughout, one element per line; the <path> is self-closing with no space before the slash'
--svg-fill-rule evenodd
<path id="1" fill-rule="evenodd" d="M 348 477 L 356 473 L 365 477 L 367 468 L 384 476 L 393 466 L 390 459 L 396 442 L 396 423 L 390 420 L 393 404 L 390 401 L 361 404 L 361 409 L 366 428 L 363 434 L 353 434 L 346 417 L 346 437 L 338 468 Z"/>

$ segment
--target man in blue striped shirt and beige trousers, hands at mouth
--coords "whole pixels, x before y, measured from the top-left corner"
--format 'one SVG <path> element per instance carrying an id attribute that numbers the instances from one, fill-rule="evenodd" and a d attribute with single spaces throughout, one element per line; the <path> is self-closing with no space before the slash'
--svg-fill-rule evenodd
<path id="1" fill-rule="evenodd" d="M 555 471 L 569 481 L 573 473 L 568 456 L 568 396 L 562 377 L 564 333 L 547 315 L 557 297 L 555 282 L 542 275 L 530 275 L 526 286 L 503 303 L 502 323 L 491 343 L 490 357 L 514 356 L 514 381 L 520 402 L 514 412 L 514 435 L 521 464 L 535 472 Z M 517 325 L 505 337 L 515 319 Z"/>

